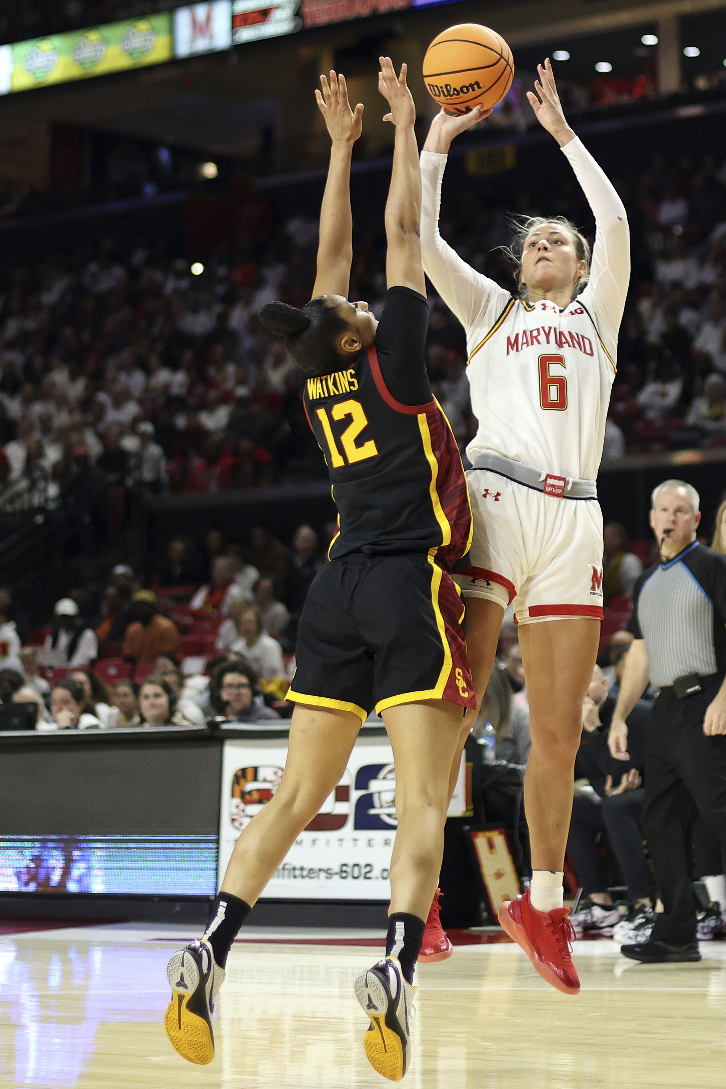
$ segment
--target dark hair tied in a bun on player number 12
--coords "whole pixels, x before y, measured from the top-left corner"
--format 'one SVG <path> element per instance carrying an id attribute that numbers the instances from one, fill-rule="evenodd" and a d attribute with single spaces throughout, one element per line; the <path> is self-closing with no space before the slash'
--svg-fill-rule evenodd
<path id="1" fill-rule="evenodd" d="M 259 319 L 285 342 L 293 362 L 306 375 L 327 375 L 341 367 L 336 341 L 348 327 L 327 295 L 299 309 L 287 303 L 266 303 Z"/>

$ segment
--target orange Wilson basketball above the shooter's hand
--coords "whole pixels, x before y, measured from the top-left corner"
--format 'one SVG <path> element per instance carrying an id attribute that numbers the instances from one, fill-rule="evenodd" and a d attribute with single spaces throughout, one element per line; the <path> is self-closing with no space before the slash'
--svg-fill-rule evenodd
<path id="1" fill-rule="evenodd" d="M 446 113 L 485 110 L 501 102 L 514 79 L 514 58 L 488 26 L 459 23 L 442 30 L 423 58 L 427 90 Z"/>

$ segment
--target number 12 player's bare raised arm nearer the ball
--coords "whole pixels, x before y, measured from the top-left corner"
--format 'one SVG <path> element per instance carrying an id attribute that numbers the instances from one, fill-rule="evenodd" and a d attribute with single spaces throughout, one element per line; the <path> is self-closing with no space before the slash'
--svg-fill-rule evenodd
<path id="1" fill-rule="evenodd" d="M 391 111 L 384 121 L 396 126 L 393 170 L 385 204 L 385 235 L 389 244 L 385 276 L 389 287 L 410 287 L 426 295 L 421 261 L 421 170 L 416 143 L 416 106 L 406 85 L 407 66 L 397 76 L 390 57 L 380 57 L 378 89 Z"/>

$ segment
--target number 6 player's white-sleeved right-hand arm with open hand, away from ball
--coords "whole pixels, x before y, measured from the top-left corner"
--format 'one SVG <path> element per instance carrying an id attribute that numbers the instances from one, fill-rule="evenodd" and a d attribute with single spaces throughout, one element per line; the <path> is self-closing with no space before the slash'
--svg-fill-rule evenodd
<path id="1" fill-rule="evenodd" d="M 527 93 L 529 105 L 543 129 L 554 136 L 575 171 L 595 218 L 590 280 L 585 289 L 595 318 L 611 326 L 614 340 L 623 318 L 630 280 L 630 232 L 625 205 L 604 170 L 595 162 L 565 118 L 547 58 L 538 64 L 540 78 Z"/>

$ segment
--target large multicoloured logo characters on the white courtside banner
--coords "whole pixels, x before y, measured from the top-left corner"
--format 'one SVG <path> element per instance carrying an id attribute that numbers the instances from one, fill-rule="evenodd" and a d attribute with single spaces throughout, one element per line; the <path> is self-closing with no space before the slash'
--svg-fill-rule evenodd
<path id="1" fill-rule="evenodd" d="M 259 764 L 235 771 L 232 778 L 230 820 L 238 832 L 273 797 L 282 779 L 282 771 L 275 764 Z M 350 772 L 346 769 L 317 817 L 305 829 L 306 832 L 337 832 L 348 824 L 353 809 L 350 778 Z M 355 802 L 354 831 L 390 831 L 397 827 L 396 779 L 392 763 L 371 763 L 360 768 L 356 772 L 355 790 L 365 793 Z"/>

